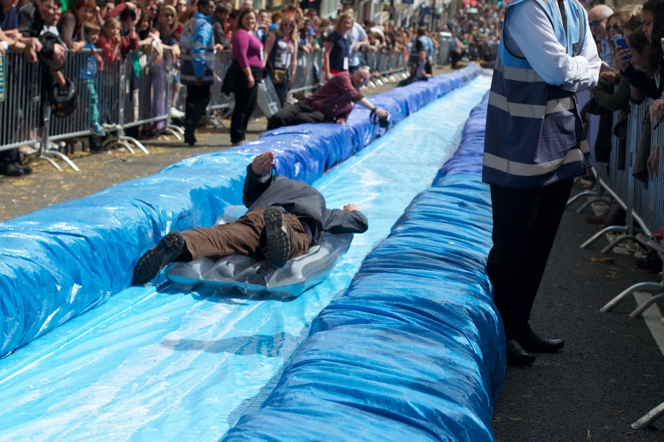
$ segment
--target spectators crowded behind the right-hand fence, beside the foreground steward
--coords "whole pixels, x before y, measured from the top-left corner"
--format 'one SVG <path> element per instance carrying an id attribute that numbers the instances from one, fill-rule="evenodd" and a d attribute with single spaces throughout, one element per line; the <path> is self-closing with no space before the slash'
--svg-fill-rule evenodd
<path id="1" fill-rule="evenodd" d="M 644 115 L 633 116 L 643 124 L 632 175 L 647 189 L 658 171 L 659 146 L 652 148 L 652 130 L 664 117 L 664 51 L 661 44 L 664 2 L 648 0 L 643 6 L 628 5 L 620 9 L 594 6 L 588 11 L 588 21 L 602 59 L 599 84 L 592 90 L 591 101 L 581 110 L 584 119 L 588 113 L 599 115 L 598 136 L 591 146 L 593 160 L 595 164 L 602 164 L 614 157 L 615 166 L 625 170 L 627 118 L 634 109 L 631 104 L 640 104 L 646 98 L 655 99 Z M 616 111 L 618 116 L 614 121 Z M 611 137 L 614 135 L 618 138 L 617 155 L 611 155 L 614 148 Z M 594 185 L 591 175 L 584 181 L 587 187 Z M 607 215 L 587 219 L 598 224 L 620 224 L 625 220 L 625 212 L 614 204 Z M 654 252 L 638 258 L 639 267 L 661 271 L 661 260 Z"/>

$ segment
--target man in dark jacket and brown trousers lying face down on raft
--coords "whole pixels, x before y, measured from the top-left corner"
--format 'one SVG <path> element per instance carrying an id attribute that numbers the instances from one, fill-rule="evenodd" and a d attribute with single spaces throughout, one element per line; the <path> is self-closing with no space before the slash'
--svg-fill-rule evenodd
<path id="1" fill-rule="evenodd" d="M 268 259 L 277 269 L 302 256 L 323 232 L 364 233 L 367 218 L 356 204 L 327 209 L 325 198 L 306 182 L 273 175 L 275 155 L 261 153 L 247 167 L 242 202 L 249 211 L 228 224 L 168 233 L 140 257 L 133 284 L 152 280 L 169 262 L 228 255 Z"/>

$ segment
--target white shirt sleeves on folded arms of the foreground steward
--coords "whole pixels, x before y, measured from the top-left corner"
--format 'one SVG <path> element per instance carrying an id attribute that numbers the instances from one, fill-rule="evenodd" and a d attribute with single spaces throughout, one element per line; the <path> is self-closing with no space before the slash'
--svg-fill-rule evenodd
<path id="1" fill-rule="evenodd" d="M 508 32 L 528 63 L 546 83 L 570 92 L 596 86 L 602 60 L 597 55 L 597 46 L 588 23 L 581 23 L 586 27 L 586 37 L 579 55 L 570 57 L 555 38 L 546 12 L 535 0 L 525 0 L 509 8 L 505 21 L 504 32 Z"/>

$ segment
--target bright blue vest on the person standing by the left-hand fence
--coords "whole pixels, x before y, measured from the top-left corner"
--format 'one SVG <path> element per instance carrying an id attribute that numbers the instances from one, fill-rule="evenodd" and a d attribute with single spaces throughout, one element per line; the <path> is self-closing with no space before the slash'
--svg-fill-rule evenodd
<path id="1" fill-rule="evenodd" d="M 192 64 L 193 59 L 204 59 L 205 60 L 205 75 L 203 76 L 203 84 L 212 84 L 214 82 L 214 37 L 212 32 L 210 32 L 210 41 L 208 41 L 208 46 L 204 46 L 200 43 L 194 43 L 194 35 L 196 32 L 199 32 L 199 26 L 210 26 L 205 19 L 200 17 L 192 17 L 192 19 L 185 25 L 185 28 L 182 30 L 180 36 L 180 79 L 182 84 L 192 85 L 196 81 L 196 75 L 194 75 L 194 64 Z M 203 48 L 205 49 L 204 54 L 192 54 L 192 48 Z"/>

